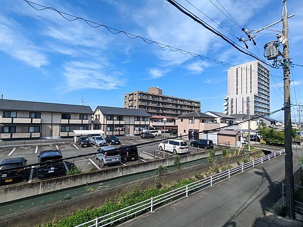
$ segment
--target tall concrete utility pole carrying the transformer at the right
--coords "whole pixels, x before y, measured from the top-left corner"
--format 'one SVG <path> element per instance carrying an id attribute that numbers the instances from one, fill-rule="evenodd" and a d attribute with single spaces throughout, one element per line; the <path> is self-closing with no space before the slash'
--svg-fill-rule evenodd
<path id="1" fill-rule="evenodd" d="M 289 219 L 295 219 L 294 215 L 294 187 L 293 164 L 291 147 L 291 116 L 290 116 L 290 81 L 289 81 L 289 46 L 288 46 L 288 18 L 286 0 L 283 0 L 283 73 L 284 73 L 284 148 L 285 148 L 285 185 L 286 185 L 286 210 Z"/>

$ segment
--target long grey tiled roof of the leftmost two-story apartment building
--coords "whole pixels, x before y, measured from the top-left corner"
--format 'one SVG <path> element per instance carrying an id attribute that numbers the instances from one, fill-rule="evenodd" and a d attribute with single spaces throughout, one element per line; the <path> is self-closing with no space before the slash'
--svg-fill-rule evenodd
<path id="1" fill-rule="evenodd" d="M 64 112 L 64 113 L 87 113 L 92 114 L 88 105 L 71 105 L 48 102 L 33 102 L 21 100 L 0 99 L 0 109 L 20 110 L 20 111 L 39 111 L 39 112 Z"/>

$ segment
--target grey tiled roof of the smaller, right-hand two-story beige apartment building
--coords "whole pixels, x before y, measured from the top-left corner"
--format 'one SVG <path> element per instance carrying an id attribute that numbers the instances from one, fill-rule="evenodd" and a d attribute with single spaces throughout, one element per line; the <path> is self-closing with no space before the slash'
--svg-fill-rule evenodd
<path id="1" fill-rule="evenodd" d="M 100 105 L 98 105 L 96 109 L 99 109 L 104 115 L 150 117 L 149 113 L 147 113 L 144 109 L 129 109 L 129 108 L 121 108 L 121 107 L 100 106 Z"/>

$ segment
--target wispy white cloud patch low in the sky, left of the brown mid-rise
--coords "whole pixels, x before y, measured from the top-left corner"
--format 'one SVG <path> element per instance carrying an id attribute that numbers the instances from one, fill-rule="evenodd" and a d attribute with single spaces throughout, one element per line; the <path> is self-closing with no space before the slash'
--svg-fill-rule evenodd
<path id="1" fill-rule="evenodd" d="M 118 89 L 125 85 L 122 73 L 99 62 L 70 62 L 65 65 L 63 76 L 66 85 L 60 90 L 70 92 L 79 89 Z M 106 66 L 106 67 L 105 67 Z"/>

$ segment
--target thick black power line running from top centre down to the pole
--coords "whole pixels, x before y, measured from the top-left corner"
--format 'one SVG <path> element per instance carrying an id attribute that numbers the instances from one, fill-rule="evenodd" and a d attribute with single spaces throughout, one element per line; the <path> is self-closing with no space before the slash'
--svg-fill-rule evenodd
<path id="1" fill-rule="evenodd" d="M 267 66 L 270 66 L 272 68 L 274 68 L 271 64 L 263 61 L 262 59 L 259 59 L 256 55 L 252 54 L 251 52 L 247 53 L 246 51 L 243 51 L 242 49 L 244 49 L 242 46 L 239 46 L 238 44 L 236 44 L 235 42 L 233 42 L 232 40 L 230 40 L 229 38 L 227 38 L 226 36 L 224 36 L 222 33 L 220 33 L 219 31 L 217 31 L 216 29 L 214 29 L 212 26 L 208 25 L 207 23 L 205 23 L 203 20 L 201 20 L 200 18 L 198 18 L 197 16 L 195 16 L 193 13 L 191 13 L 189 10 L 187 10 L 185 7 L 183 7 L 182 5 L 180 5 L 179 3 L 177 3 L 174 0 L 166 0 L 167 2 L 169 2 L 171 5 L 173 5 L 174 7 L 176 7 L 180 12 L 182 12 L 183 14 L 185 14 L 186 16 L 190 17 L 191 19 L 193 19 L 195 22 L 199 23 L 200 25 L 202 25 L 203 27 L 205 27 L 206 29 L 208 29 L 209 31 L 213 32 L 214 34 L 216 34 L 217 36 L 221 37 L 223 40 L 225 40 L 226 42 L 228 42 L 229 44 L 231 44 L 234 48 L 236 48 L 237 50 L 239 50 L 240 52 L 251 56 L 252 58 L 259 60 L 260 62 L 264 63 Z M 240 49 L 242 48 L 242 49 Z"/>

